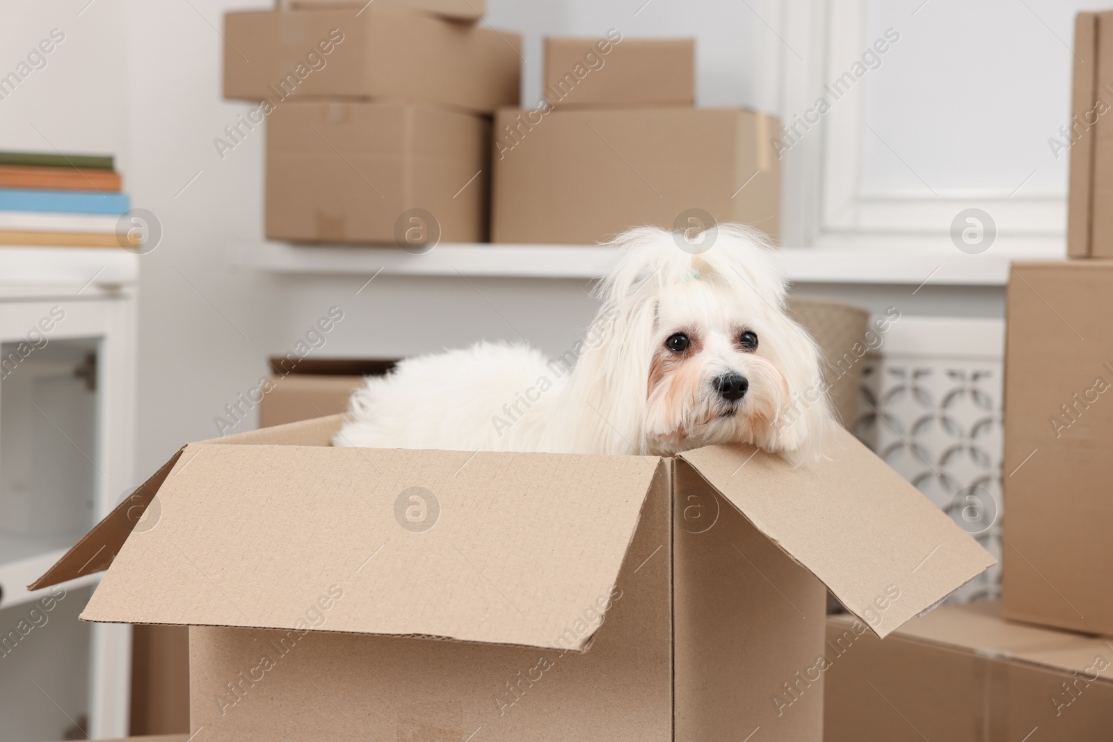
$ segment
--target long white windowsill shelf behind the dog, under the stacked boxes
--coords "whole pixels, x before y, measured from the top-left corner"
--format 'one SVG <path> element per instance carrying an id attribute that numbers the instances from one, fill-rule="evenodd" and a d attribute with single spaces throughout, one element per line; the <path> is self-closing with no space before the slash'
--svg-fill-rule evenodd
<path id="1" fill-rule="evenodd" d="M 949 246 L 948 246 L 949 247 Z M 579 278 L 601 276 L 614 259 L 612 248 L 592 245 L 439 245 L 424 255 L 394 246 L 294 245 L 265 241 L 239 245 L 237 263 L 277 274 L 372 276 L 470 276 Z M 1056 259 L 1056 249 L 991 249 L 966 255 L 957 249 L 781 248 L 777 259 L 794 283 L 906 284 L 930 277 L 935 286 L 1004 286 L 1014 259 Z"/>

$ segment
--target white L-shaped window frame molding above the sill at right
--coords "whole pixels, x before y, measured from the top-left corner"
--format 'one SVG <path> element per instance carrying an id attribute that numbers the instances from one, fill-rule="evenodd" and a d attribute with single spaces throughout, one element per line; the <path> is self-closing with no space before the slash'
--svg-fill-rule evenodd
<path id="1" fill-rule="evenodd" d="M 785 46 L 808 51 L 804 63 L 789 49 L 779 55 L 780 116 L 782 123 L 791 125 L 825 93 L 825 85 L 848 71 L 873 39 L 865 38 L 866 0 L 775 2 L 780 6 Z M 877 235 L 886 236 L 889 249 L 904 248 L 917 237 L 949 245 L 952 219 L 973 206 L 994 218 L 998 239 L 1017 237 L 1035 243 L 1043 253 L 1065 254 L 1066 204 L 1060 196 L 996 190 L 892 197 L 864 192 L 863 141 L 875 136 L 865 120 L 867 85 L 868 73 L 784 152 L 785 245 L 828 247 Z"/>

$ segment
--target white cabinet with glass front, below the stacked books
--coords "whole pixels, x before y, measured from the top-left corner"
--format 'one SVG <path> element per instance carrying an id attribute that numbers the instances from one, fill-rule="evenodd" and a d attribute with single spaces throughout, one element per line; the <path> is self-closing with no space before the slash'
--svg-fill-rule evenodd
<path id="1" fill-rule="evenodd" d="M 138 258 L 72 253 L 0 249 L 0 742 L 127 733 L 130 627 L 77 620 L 98 577 L 26 588 L 134 484 Z"/>

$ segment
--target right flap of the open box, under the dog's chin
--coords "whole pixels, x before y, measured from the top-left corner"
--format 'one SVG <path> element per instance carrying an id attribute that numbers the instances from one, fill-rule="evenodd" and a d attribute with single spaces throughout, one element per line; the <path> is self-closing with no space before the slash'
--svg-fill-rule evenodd
<path id="1" fill-rule="evenodd" d="M 881 637 L 995 563 L 846 431 L 830 456 L 804 468 L 741 446 L 680 458 Z"/>

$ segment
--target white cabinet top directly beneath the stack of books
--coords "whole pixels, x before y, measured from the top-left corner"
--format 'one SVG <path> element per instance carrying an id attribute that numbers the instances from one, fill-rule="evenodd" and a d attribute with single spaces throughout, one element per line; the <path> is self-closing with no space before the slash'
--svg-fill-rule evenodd
<path id="1" fill-rule="evenodd" d="M 118 247 L 0 247 L 4 296 L 42 288 L 95 296 L 139 279 L 140 256 Z M 93 278 L 96 276 L 96 278 Z M 85 287 L 85 288 L 82 288 Z"/>

